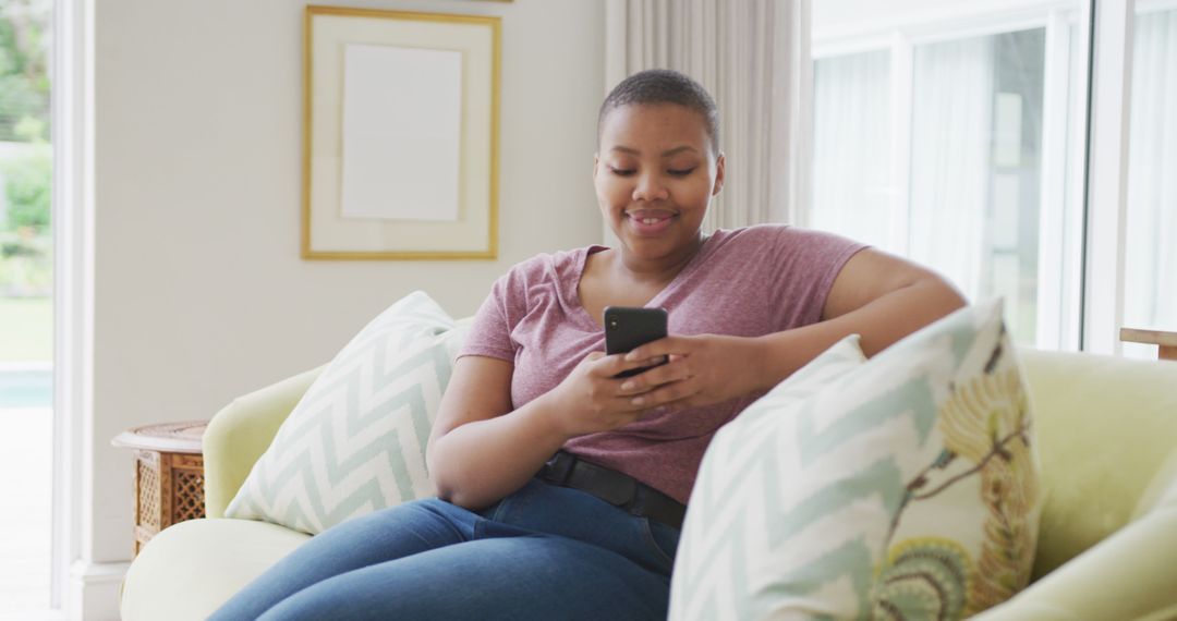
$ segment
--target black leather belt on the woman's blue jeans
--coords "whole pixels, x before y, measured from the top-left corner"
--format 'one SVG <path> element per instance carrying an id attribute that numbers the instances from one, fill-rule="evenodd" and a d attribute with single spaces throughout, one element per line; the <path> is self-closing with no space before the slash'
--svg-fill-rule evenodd
<path id="1" fill-rule="evenodd" d="M 683 528 L 685 505 L 627 474 L 584 461 L 571 453 L 557 452 L 539 469 L 538 476 L 558 486 L 587 492 L 633 515 Z"/>

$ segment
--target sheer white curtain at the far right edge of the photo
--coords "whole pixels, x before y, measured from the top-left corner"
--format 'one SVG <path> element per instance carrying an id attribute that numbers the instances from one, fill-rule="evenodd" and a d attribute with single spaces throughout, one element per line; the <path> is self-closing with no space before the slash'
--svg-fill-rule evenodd
<path id="1" fill-rule="evenodd" d="M 1177 11 L 1139 15 L 1135 32 L 1124 322 L 1172 330 L 1177 329 Z"/>

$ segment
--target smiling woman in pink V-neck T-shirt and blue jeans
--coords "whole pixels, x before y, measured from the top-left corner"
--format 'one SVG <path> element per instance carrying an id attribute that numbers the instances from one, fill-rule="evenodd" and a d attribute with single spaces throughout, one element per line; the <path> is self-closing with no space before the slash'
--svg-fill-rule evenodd
<path id="1" fill-rule="evenodd" d="M 862 334 L 871 355 L 964 303 L 834 235 L 705 236 L 725 160 L 714 102 L 681 74 L 623 81 L 598 134 L 620 245 L 539 255 L 494 283 L 430 438 L 439 498 L 315 536 L 214 619 L 665 617 L 719 426 L 838 339 Z M 664 307 L 671 336 L 605 355 L 606 306 Z"/>

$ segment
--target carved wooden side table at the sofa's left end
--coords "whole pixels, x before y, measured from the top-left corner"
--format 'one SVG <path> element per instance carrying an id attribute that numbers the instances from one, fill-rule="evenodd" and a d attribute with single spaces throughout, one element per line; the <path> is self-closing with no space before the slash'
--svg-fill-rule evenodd
<path id="1" fill-rule="evenodd" d="M 135 452 L 134 554 L 160 530 L 205 516 L 205 458 L 208 421 L 133 427 L 111 445 Z"/>

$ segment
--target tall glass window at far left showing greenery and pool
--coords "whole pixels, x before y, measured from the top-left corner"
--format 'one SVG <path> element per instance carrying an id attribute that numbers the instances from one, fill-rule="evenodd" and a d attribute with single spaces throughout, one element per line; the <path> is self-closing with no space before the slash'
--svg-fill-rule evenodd
<path id="1" fill-rule="evenodd" d="M 52 596 L 51 0 L 0 0 L 0 619 Z"/>

